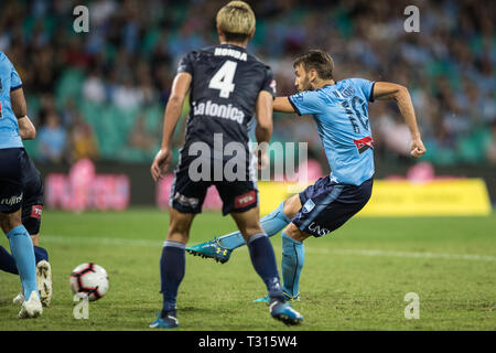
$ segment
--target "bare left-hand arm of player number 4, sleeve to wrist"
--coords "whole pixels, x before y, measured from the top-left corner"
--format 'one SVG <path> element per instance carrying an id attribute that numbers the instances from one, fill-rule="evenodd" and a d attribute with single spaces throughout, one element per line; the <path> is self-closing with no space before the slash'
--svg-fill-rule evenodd
<path id="1" fill-rule="evenodd" d="M 163 117 L 162 148 L 170 148 L 172 145 L 172 136 L 183 111 L 183 104 L 190 90 L 191 81 L 192 76 L 188 73 L 180 73 L 174 77 L 171 96 Z"/>

